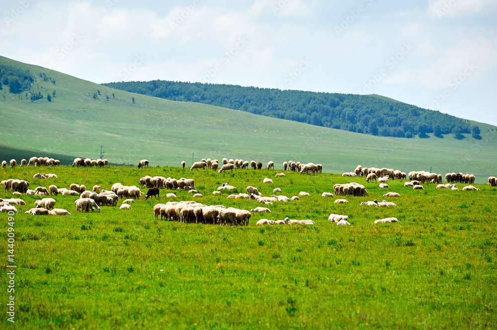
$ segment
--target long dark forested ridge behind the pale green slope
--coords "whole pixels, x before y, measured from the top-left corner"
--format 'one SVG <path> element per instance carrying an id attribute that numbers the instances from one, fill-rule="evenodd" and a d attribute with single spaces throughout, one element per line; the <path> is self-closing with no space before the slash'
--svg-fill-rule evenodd
<path id="1" fill-rule="evenodd" d="M 316 93 L 235 85 L 176 81 L 113 82 L 104 86 L 173 101 L 217 105 L 350 132 L 395 137 L 441 137 L 463 133 L 480 137 L 480 129 L 466 120 L 376 97 L 337 93 Z"/>

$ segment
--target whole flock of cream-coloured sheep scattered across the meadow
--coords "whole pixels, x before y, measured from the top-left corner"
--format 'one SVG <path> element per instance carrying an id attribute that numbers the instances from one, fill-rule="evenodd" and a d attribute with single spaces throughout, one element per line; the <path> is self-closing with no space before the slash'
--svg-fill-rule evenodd
<path id="1" fill-rule="evenodd" d="M 195 162 L 190 171 L 194 169 L 205 169 L 211 168 L 213 170 L 218 170 L 218 160 L 214 159 L 202 159 L 199 162 Z M 21 166 L 57 166 L 60 162 L 55 159 L 48 157 L 31 157 L 29 163 L 26 164 L 26 161 L 23 159 L 21 161 Z M 91 159 L 83 159 L 76 158 L 73 166 L 105 166 L 107 164 L 106 160 L 91 160 Z M 139 163 L 139 167 L 148 166 L 149 162 L 147 160 L 141 160 Z M 248 166 L 251 166 L 253 169 L 261 169 L 262 164 L 260 162 L 255 163 L 255 161 L 243 161 L 241 159 L 226 159 L 222 160 L 222 166 L 219 168 L 218 172 L 222 173 L 227 170 L 233 171 L 236 167 L 237 169 L 245 169 Z M 10 161 L 11 168 L 15 168 L 16 161 L 12 159 Z M 185 162 L 181 162 L 181 166 L 185 167 Z M 6 167 L 6 161 L 2 162 L 2 168 Z M 270 161 L 267 163 L 267 169 L 274 169 L 274 162 Z M 299 162 L 295 163 L 293 161 L 284 162 L 283 170 L 289 171 L 299 171 L 300 174 L 315 174 L 320 173 L 322 171 L 322 166 L 320 164 L 301 164 Z M 284 173 L 277 173 L 276 177 L 284 177 Z M 438 184 L 436 188 L 438 189 L 451 189 L 453 191 L 457 191 L 458 188 L 454 183 L 473 183 L 475 181 L 475 176 L 472 174 L 462 174 L 462 173 L 447 173 L 445 175 L 445 179 L 447 184 L 441 184 L 442 176 L 436 173 L 429 173 L 425 171 L 412 171 L 408 175 L 405 172 L 401 172 L 399 170 L 387 169 L 387 168 L 362 168 L 362 166 L 357 166 L 353 172 L 344 173 L 342 176 L 363 176 L 366 177 L 366 182 L 377 182 L 379 183 L 379 188 L 389 188 L 388 180 L 395 179 L 409 179 L 411 181 L 405 182 L 405 187 L 413 187 L 416 189 L 424 189 L 421 184 L 429 184 L 435 183 Z M 37 173 L 33 176 L 34 179 L 57 179 L 56 174 L 40 174 Z M 491 187 L 497 186 L 496 177 L 489 177 L 489 185 Z M 115 183 L 112 185 L 109 191 L 101 190 L 100 186 L 93 186 L 92 190 L 86 190 L 84 185 L 71 184 L 69 189 L 67 188 L 57 188 L 55 185 L 50 185 L 47 188 L 39 186 L 34 190 L 29 189 L 29 182 L 25 180 L 17 180 L 17 179 L 8 179 L 1 181 L 1 184 L 4 185 L 4 189 L 6 192 L 12 192 L 13 195 L 21 196 L 22 194 L 26 195 L 36 195 L 36 196 L 58 196 L 59 194 L 63 196 L 78 196 L 79 198 L 75 200 L 76 210 L 77 212 L 89 212 L 89 211 L 97 211 L 100 212 L 100 206 L 117 206 L 118 200 L 123 199 L 123 202 L 120 206 L 120 209 L 131 209 L 130 203 L 134 202 L 136 199 L 140 199 L 142 195 L 145 195 L 145 198 L 155 197 L 160 198 L 159 193 L 160 189 L 166 189 L 171 191 L 183 190 L 188 191 L 190 194 L 193 194 L 193 197 L 200 198 L 203 197 L 201 194 L 195 190 L 195 183 L 193 179 L 181 178 L 179 180 L 175 178 L 165 178 L 162 176 L 144 176 L 139 179 L 139 183 L 141 187 L 149 188 L 149 191 L 145 195 L 141 192 L 140 188 L 137 186 L 124 186 L 121 183 Z M 273 183 L 271 179 L 265 178 L 263 183 Z M 223 184 L 218 187 L 216 191 L 213 192 L 214 195 L 219 195 L 223 191 L 234 190 L 236 187 L 229 185 L 228 183 Z M 335 184 L 333 186 L 334 194 L 337 196 L 366 196 L 368 194 L 367 190 L 363 185 L 357 183 L 348 183 L 348 184 Z M 463 191 L 468 190 L 479 190 L 473 186 L 466 186 L 462 189 Z M 287 202 L 292 200 L 298 200 L 300 197 L 309 196 L 306 192 L 300 192 L 299 196 L 293 196 L 291 198 L 284 195 L 274 195 L 277 193 L 281 193 L 281 189 L 275 188 L 273 190 L 273 195 L 271 196 L 262 196 L 257 188 L 253 186 L 248 186 L 245 191 L 247 194 L 239 193 L 238 195 L 229 195 L 227 198 L 246 198 L 246 199 L 254 199 L 259 203 L 265 205 L 271 205 L 274 202 Z M 175 194 L 169 193 L 166 197 L 176 197 Z M 333 194 L 329 192 L 324 192 L 322 197 L 334 197 Z M 398 193 L 389 192 L 383 197 L 400 197 Z M 335 203 L 347 203 L 346 199 L 335 199 Z M 55 198 L 42 198 L 41 200 L 36 200 L 34 202 L 33 208 L 26 211 L 27 214 L 33 215 L 71 215 L 71 213 L 65 209 L 55 208 L 56 199 Z M 25 205 L 25 202 L 20 198 L 8 198 L 1 199 L 0 198 L 0 211 L 8 212 L 13 211 L 17 212 L 15 206 L 16 205 Z M 393 202 L 388 202 L 383 200 L 378 202 L 367 201 L 361 202 L 361 206 L 375 206 L 375 207 L 395 207 L 396 204 Z M 224 205 L 204 205 L 202 203 L 196 201 L 168 201 L 166 204 L 159 203 L 154 206 L 154 217 L 158 218 L 159 215 L 161 219 L 165 219 L 168 221 L 180 221 L 184 223 L 203 223 L 203 224 L 220 224 L 220 225 L 248 225 L 248 221 L 251 217 L 252 212 L 265 212 L 271 213 L 270 209 L 267 207 L 255 207 L 248 210 L 238 209 L 233 207 L 226 207 Z M 330 214 L 329 221 L 335 222 L 337 225 L 350 225 L 348 222 L 348 216 L 339 215 L 339 214 Z M 397 218 L 385 218 L 378 219 L 374 223 L 385 223 L 385 222 L 398 222 Z M 315 224 L 312 220 L 293 220 L 289 217 L 286 217 L 283 220 L 268 220 L 268 219 L 260 219 L 257 221 L 256 225 L 266 225 L 266 224 Z"/>

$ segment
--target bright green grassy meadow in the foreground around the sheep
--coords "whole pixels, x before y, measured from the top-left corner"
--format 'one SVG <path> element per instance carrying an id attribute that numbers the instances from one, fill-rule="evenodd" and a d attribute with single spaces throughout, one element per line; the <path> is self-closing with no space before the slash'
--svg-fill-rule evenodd
<path id="1" fill-rule="evenodd" d="M 37 172 L 58 179 L 35 180 Z M 41 197 L 21 197 L 15 218 L 15 323 L 1 329 L 496 329 L 496 189 L 414 191 L 404 180 L 379 189 L 364 178 L 329 173 L 317 176 L 280 170 L 178 167 L 36 168 L 0 170 L 0 179 L 24 179 L 30 188 L 84 184 L 110 189 L 113 183 L 139 185 L 150 175 L 195 179 L 204 204 L 252 213 L 248 226 L 183 224 L 155 220 L 158 200 L 136 200 L 131 210 L 101 206 L 100 213 L 77 213 L 78 197 L 57 196 L 56 207 L 70 216 L 24 214 Z M 263 184 L 271 178 L 273 184 Z M 212 195 L 228 182 L 262 195 L 311 196 L 261 205 L 254 200 Z M 367 197 L 347 204 L 323 198 L 336 183 L 358 182 Z M 145 188 L 141 189 L 146 192 Z M 385 198 L 396 207 L 359 206 Z M 191 200 L 187 192 L 160 202 Z M 0 198 L 11 194 L 0 190 Z M 328 221 L 346 214 L 351 226 Z M 255 226 L 260 218 L 312 219 L 316 225 Z M 397 217 L 398 223 L 373 224 Z M 7 214 L 0 213 L 7 250 Z M 5 260 L 5 259 L 4 259 Z M 0 283 L 7 287 L 5 263 Z M 9 268 L 10 269 L 10 268 Z M 6 304 L 3 289 L 0 302 Z M 4 309 L 5 310 L 5 309 Z"/>

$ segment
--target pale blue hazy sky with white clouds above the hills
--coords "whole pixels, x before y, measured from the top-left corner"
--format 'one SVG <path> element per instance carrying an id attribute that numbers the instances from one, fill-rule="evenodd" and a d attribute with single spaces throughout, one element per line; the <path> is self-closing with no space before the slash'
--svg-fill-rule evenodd
<path id="1" fill-rule="evenodd" d="M 93 82 L 385 95 L 497 125 L 497 0 L 3 0 L 0 55 Z"/>

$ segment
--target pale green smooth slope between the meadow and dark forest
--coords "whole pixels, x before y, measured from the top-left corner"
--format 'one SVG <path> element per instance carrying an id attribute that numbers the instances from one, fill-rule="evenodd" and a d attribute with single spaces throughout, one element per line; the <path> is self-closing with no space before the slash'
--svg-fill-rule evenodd
<path id="1" fill-rule="evenodd" d="M 320 162 L 325 172 L 334 173 L 361 164 L 405 172 L 431 167 L 443 175 L 473 173 L 479 183 L 497 174 L 497 131 L 486 124 L 472 123 L 480 126 L 482 140 L 457 140 L 452 134 L 424 139 L 372 136 L 133 94 L 40 66 L 1 57 L 0 62 L 29 70 L 36 78 L 30 91 L 14 94 L 5 85 L 0 90 L 0 142 L 9 146 L 96 159 L 103 145 L 109 162 L 137 164 L 146 158 L 151 166 L 177 166 L 182 160 L 190 164 L 194 153 L 195 160 L 272 160 L 277 169 L 290 159 Z M 31 92 L 38 91 L 44 98 L 31 101 Z"/>

